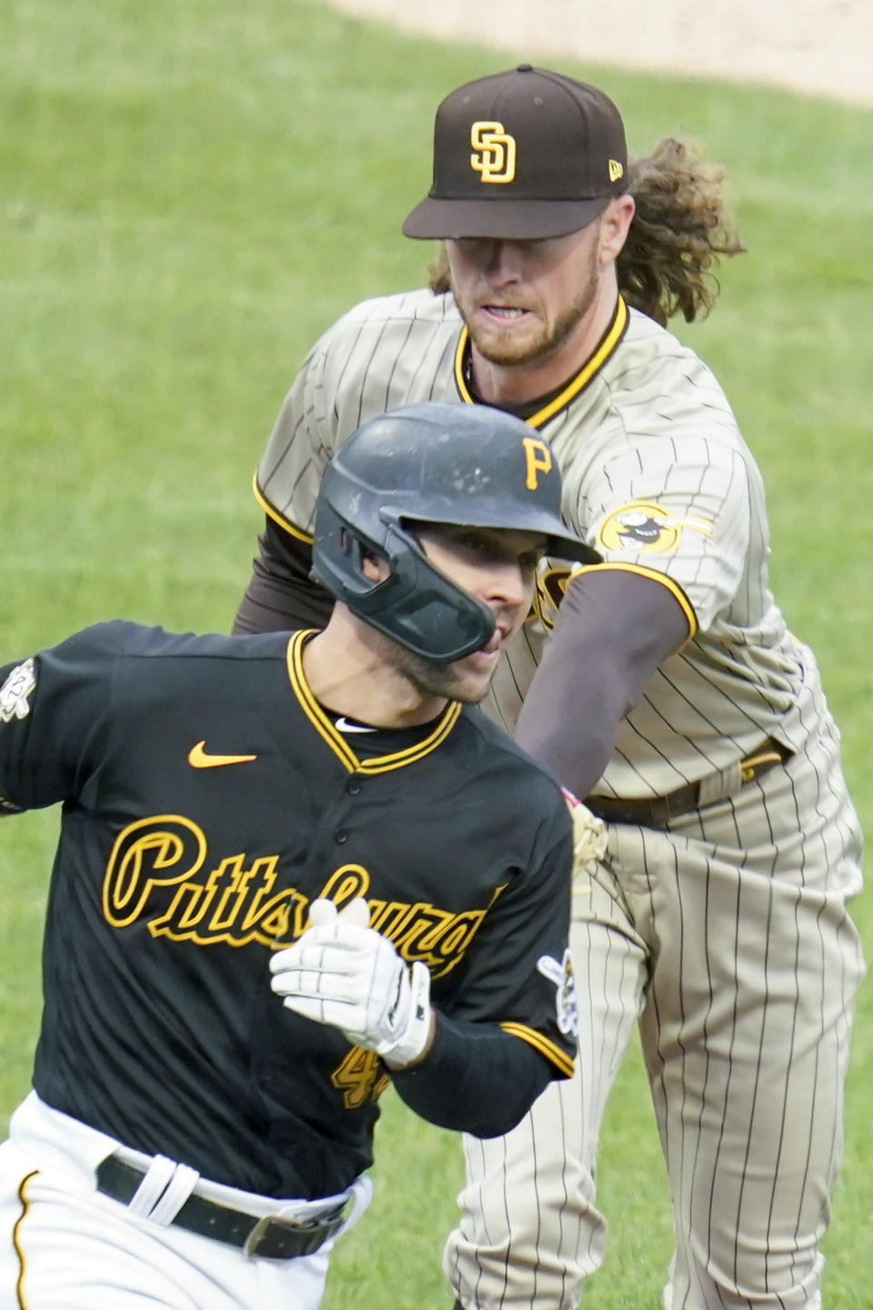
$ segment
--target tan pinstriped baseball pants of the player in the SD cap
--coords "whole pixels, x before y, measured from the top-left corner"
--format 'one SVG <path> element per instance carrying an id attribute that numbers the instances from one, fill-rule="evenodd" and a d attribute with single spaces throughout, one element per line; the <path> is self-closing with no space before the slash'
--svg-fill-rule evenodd
<path id="1" fill-rule="evenodd" d="M 599 1124 L 639 1022 L 673 1197 L 668 1310 L 818 1310 L 864 965 L 861 838 L 825 731 L 668 831 L 615 825 L 573 897 L 577 1072 L 465 1138 L 444 1268 L 466 1310 L 573 1310 L 602 1263 Z"/>

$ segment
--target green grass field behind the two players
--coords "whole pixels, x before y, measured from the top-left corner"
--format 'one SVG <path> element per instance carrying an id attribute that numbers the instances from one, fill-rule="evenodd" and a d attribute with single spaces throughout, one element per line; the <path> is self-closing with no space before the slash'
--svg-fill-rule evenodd
<path id="1" fill-rule="evenodd" d="M 526 58 L 520 50 L 517 59 Z M 226 630 L 260 514 L 250 478 L 313 338 L 419 284 L 399 223 L 429 185 L 437 101 L 517 62 L 293 0 L 5 0 L 0 8 L 0 662 L 98 618 Z M 681 335 L 715 367 L 770 489 L 772 578 L 818 652 L 873 832 L 873 113 L 568 64 L 631 148 L 691 135 L 728 166 L 749 253 Z M 3 825 L 0 1119 L 29 1086 L 58 815 Z M 857 904 L 873 955 L 873 901 Z M 827 1310 L 873 1221 L 873 1002 L 861 994 Z M 0 1124 L 0 1128 L 3 1124 Z M 389 1093 L 377 1196 L 326 1310 L 438 1310 L 457 1142 Z M 657 1310 L 670 1251 L 639 1058 L 602 1141 L 613 1246 L 589 1310 Z M 864 1279 L 861 1279 L 864 1281 Z"/>

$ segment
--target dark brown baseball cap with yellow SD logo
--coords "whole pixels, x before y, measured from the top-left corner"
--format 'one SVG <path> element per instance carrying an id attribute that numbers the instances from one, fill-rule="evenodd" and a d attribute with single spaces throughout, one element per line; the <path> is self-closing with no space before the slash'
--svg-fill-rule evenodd
<path id="1" fill-rule="evenodd" d="M 622 117 L 597 86 L 518 64 L 453 90 L 436 114 L 433 185 L 407 237 L 558 237 L 628 189 Z"/>

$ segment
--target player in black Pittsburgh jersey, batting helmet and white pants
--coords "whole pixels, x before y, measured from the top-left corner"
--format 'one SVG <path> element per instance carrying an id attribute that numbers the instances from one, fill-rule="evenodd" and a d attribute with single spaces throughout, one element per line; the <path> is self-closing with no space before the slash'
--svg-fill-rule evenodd
<path id="1" fill-rule="evenodd" d="M 0 667 L 0 819 L 63 802 L 4 1310 L 317 1310 L 389 1082 L 497 1134 L 572 1074 L 565 798 L 475 707 L 542 552 L 597 558 L 527 440 L 364 424 L 323 631 L 119 621 Z"/>

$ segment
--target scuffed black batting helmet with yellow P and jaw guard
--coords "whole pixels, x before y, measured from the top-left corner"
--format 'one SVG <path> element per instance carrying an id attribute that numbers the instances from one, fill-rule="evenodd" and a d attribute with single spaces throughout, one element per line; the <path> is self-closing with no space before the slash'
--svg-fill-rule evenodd
<path id="1" fill-rule="evenodd" d="M 542 533 L 561 559 L 599 555 L 567 531 L 548 445 L 521 419 L 483 405 L 428 402 L 364 423 L 340 447 L 315 507 L 313 576 L 353 614 L 427 659 L 484 646 L 491 610 L 428 561 L 415 524 Z M 387 559 L 373 583 L 361 552 Z"/>

